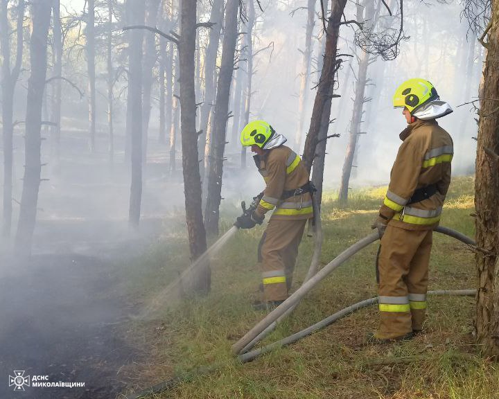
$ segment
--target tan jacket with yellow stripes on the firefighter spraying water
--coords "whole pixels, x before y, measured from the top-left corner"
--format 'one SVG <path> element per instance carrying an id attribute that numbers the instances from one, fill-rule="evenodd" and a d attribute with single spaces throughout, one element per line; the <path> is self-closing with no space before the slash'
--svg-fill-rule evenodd
<path id="1" fill-rule="evenodd" d="M 265 150 L 254 161 L 267 186 L 256 213 L 260 216 L 272 211 L 272 219 L 304 220 L 313 218 L 310 193 L 281 198 L 283 191 L 296 190 L 308 181 L 308 172 L 299 155 L 286 145 Z"/>

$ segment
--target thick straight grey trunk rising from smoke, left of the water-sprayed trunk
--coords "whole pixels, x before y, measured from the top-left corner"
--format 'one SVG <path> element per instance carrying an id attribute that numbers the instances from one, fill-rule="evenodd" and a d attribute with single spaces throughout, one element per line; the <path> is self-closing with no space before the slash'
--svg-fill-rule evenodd
<path id="1" fill-rule="evenodd" d="M 134 25 L 143 25 L 144 7 L 141 0 L 128 0 L 130 16 Z M 127 123 L 130 121 L 132 134 L 130 208 L 128 222 L 132 227 L 139 227 L 142 199 L 142 43 L 143 31 L 130 32 L 130 73 L 128 80 Z"/>

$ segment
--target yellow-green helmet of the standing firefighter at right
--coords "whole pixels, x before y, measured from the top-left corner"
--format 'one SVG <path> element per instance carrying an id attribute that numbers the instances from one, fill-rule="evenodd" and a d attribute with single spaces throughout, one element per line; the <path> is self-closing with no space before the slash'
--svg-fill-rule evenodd
<path id="1" fill-rule="evenodd" d="M 393 102 L 394 108 L 407 107 L 412 114 L 421 105 L 437 98 L 437 89 L 428 80 L 414 78 L 406 80 L 396 89 Z"/>

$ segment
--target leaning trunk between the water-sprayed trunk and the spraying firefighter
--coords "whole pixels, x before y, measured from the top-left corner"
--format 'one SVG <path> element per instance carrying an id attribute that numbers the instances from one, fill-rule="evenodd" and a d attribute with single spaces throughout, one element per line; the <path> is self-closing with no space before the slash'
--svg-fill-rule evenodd
<path id="1" fill-rule="evenodd" d="M 234 52 L 237 42 L 237 15 L 239 0 L 228 0 L 225 8 L 225 29 L 222 44 L 222 63 L 218 76 L 215 109 L 213 109 L 213 135 L 211 137 L 208 195 L 204 211 L 207 233 L 218 235 L 218 218 L 222 190 L 222 173 L 229 112 L 229 93 L 234 72 Z"/>

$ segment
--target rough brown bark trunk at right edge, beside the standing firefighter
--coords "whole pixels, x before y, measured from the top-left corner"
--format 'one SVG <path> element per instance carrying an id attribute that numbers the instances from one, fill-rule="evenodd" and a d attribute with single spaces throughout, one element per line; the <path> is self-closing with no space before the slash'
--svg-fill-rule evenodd
<path id="1" fill-rule="evenodd" d="M 480 96 L 475 178 L 478 296 L 476 332 L 484 356 L 499 357 L 499 1 L 492 1 L 491 29 Z"/>

